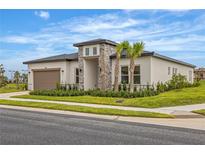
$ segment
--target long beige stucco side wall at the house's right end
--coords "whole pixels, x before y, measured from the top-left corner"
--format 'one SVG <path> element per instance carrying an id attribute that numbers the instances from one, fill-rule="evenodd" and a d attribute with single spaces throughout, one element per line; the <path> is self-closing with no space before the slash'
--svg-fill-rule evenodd
<path id="1" fill-rule="evenodd" d="M 168 75 L 168 67 L 171 68 L 171 74 Z M 166 61 L 160 58 L 151 57 L 151 83 L 157 82 L 166 82 L 172 78 L 172 69 L 177 68 L 177 74 L 180 73 L 182 75 L 186 75 L 189 80 L 189 71 L 192 72 L 192 80 L 193 82 L 193 68 L 185 65 L 181 65 L 178 63 L 174 63 L 171 61 Z"/>

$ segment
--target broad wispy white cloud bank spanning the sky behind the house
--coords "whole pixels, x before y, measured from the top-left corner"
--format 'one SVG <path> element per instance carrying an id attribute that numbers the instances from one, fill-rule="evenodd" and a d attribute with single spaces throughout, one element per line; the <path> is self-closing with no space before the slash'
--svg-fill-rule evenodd
<path id="1" fill-rule="evenodd" d="M 39 31 L 0 36 L 0 43 L 6 44 L 1 47 L 0 53 L 7 53 L 3 48 L 8 44 L 24 46 L 23 49 L 15 49 L 12 51 L 13 56 L 4 59 L 7 64 L 13 64 L 15 61 L 15 67 L 18 66 L 17 61 L 22 64 L 22 61 L 30 59 L 75 52 L 77 48 L 73 47 L 73 43 L 106 38 L 117 42 L 143 40 L 146 43 L 146 50 L 157 51 L 181 60 L 183 57 L 193 56 L 185 59 L 190 62 L 197 61 L 200 55 L 205 57 L 205 54 L 201 54 L 205 51 L 203 13 L 186 20 L 178 15 L 186 11 L 177 10 L 177 15 L 174 10 L 145 12 L 145 15 L 143 11 L 132 10 L 129 13 L 117 11 L 103 15 L 78 16 L 50 23 Z M 40 14 L 40 11 L 35 14 Z M 181 54 L 186 51 L 192 51 L 193 54 Z M 200 54 L 197 54 L 199 52 Z"/>

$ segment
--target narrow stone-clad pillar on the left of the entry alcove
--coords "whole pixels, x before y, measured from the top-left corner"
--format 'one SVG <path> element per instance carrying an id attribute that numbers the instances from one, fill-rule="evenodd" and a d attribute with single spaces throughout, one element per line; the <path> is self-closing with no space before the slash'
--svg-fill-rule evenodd
<path id="1" fill-rule="evenodd" d="M 84 89 L 84 58 L 83 47 L 78 48 L 78 63 L 79 63 L 79 88 Z"/>

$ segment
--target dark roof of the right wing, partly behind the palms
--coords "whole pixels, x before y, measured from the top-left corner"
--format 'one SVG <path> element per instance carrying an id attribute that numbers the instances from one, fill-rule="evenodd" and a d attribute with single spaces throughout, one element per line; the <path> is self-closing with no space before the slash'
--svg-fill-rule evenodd
<path id="1" fill-rule="evenodd" d="M 185 65 L 185 66 L 189 66 L 189 67 L 193 67 L 193 68 L 196 67 L 195 65 L 192 65 L 192 64 L 189 64 L 189 63 L 186 63 L 186 62 L 174 59 L 174 58 L 170 58 L 170 57 L 167 57 L 167 56 L 160 55 L 160 54 L 158 54 L 158 53 L 156 53 L 154 51 L 153 52 L 144 51 L 141 54 L 141 57 L 143 57 L 143 56 L 153 56 L 153 57 L 156 57 L 156 58 L 160 58 L 160 59 L 163 59 L 163 60 L 171 61 L 171 62 L 178 63 L 178 64 L 181 64 L 181 65 Z M 115 57 L 116 57 L 115 53 L 113 55 L 111 55 L 111 58 L 115 58 Z M 127 57 L 128 57 L 128 55 L 127 55 L 126 51 L 123 51 L 122 54 L 121 54 L 121 58 L 127 58 Z"/>

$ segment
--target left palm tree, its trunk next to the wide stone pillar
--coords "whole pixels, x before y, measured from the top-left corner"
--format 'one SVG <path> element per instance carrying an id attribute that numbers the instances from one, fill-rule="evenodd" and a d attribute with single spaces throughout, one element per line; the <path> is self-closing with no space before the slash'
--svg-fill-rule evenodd
<path id="1" fill-rule="evenodd" d="M 114 79 L 114 90 L 118 91 L 118 81 L 119 81 L 119 66 L 120 66 L 120 57 L 124 49 L 129 45 L 128 41 L 123 41 L 116 46 L 116 61 L 115 61 L 115 79 Z"/>

